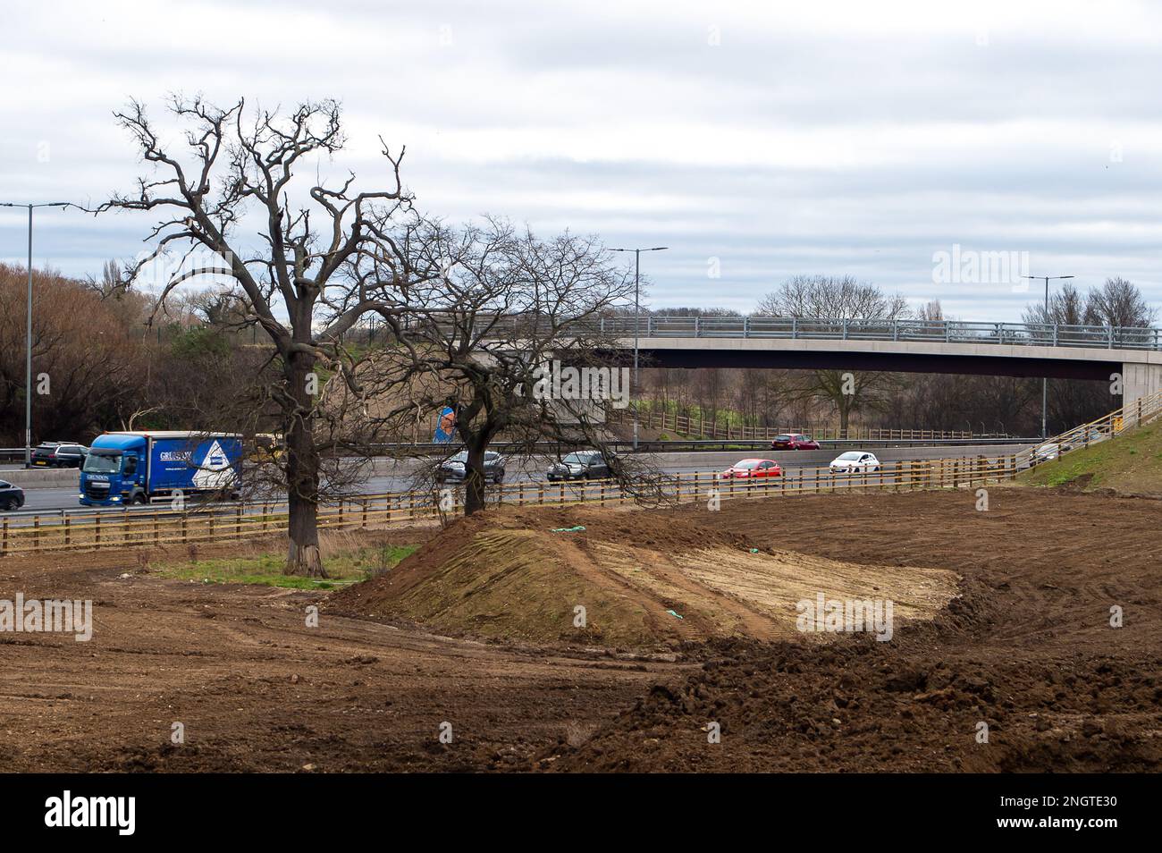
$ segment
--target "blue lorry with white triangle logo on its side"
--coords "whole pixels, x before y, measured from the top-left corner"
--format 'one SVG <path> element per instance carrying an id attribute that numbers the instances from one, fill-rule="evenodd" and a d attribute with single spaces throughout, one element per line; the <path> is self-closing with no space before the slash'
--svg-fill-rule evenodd
<path id="1" fill-rule="evenodd" d="M 242 436 L 149 430 L 106 432 L 93 442 L 80 469 L 85 507 L 235 496 Z"/>

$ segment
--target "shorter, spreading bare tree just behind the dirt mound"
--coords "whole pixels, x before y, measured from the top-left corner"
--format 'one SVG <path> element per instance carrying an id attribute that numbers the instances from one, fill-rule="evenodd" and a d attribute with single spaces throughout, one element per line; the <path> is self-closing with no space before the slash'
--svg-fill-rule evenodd
<path id="1" fill-rule="evenodd" d="M 500 436 L 526 457 L 543 440 L 596 447 L 629 485 L 631 466 L 609 453 L 601 416 L 618 392 L 629 402 L 627 370 L 601 320 L 633 282 L 596 239 L 539 239 L 490 218 L 459 230 L 429 223 L 399 243 L 419 256 L 415 267 L 443 272 L 413 291 L 426 313 L 388 317 L 401 345 L 385 354 L 383 375 L 409 389 L 389 416 L 453 409 L 467 451 L 465 514 L 485 507 L 485 453 Z M 562 389 L 554 372 L 568 370 L 588 387 Z M 604 378 L 596 394 L 593 377 Z"/>

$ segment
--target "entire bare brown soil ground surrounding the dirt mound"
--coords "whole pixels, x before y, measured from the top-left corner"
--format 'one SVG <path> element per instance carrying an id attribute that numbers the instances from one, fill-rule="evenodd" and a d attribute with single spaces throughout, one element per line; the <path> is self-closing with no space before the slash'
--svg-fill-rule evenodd
<path id="1" fill-rule="evenodd" d="M 873 587 L 884 567 L 959 575 L 957 597 L 889 643 L 677 637 L 674 662 L 439 636 L 335 604 L 307 628 L 324 594 L 163 580 L 134 552 L 6 558 L 0 598 L 93 598 L 95 625 L 89 643 L 0 633 L 0 770 L 1160 769 L 1162 502 L 1017 488 L 990 489 L 987 512 L 975 502 L 609 512 L 595 553 L 669 554 L 651 583 L 706 586 L 689 553 L 726 549 L 712 585 L 736 605 L 756 601 L 744 543 L 865 566 Z M 633 595 L 657 600 L 651 583 Z"/>

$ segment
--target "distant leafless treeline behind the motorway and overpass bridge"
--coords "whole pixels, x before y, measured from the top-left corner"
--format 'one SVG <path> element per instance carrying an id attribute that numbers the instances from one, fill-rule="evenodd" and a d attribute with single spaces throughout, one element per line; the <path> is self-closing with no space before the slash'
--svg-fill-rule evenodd
<path id="1" fill-rule="evenodd" d="M 149 295 L 117 288 L 115 265 L 101 279 L 34 273 L 33 439 L 88 442 L 110 429 L 213 428 L 223 402 L 252 400 L 271 368 L 264 336 L 241 325 L 235 306 L 207 291 L 151 316 Z M 0 445 L 23 444 L 27 273 L 0 265 Z M 648 313 L 648 309 L 643 309 Z M 738 311 L 667 308 L 655 314 L 739 316 Z M 758 313 L 804 317 L 942 320 L 938 302 L 914 311 L 897 296 L 849 278 L 797 277 L 765 296 Z M 1082 294 L 1068 285 L 1048 311 L 1032 303 L 1030 323 L 1149 325 L 1154 310 L 1124 279 Z M 385 342 L 383 329 L 353 330 L 356 346 Z M 1120 404 L 1109 382 L 1050 380 L 1049 429 L 1059 431 Z M 643 370 L 643 401 L 706 421 L 748 426 L 833 424 L 898 429 L 1040 432 L 1041 381 L 1009 377 L 838 371 Z"/>

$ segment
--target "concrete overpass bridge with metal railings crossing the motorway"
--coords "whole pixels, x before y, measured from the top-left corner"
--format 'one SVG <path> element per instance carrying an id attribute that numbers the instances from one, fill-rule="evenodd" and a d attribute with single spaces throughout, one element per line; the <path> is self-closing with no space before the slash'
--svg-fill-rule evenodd
<path id="1" fill-rule="evenodd" d="M 588 324 L 587 324 L 588 325 Z M 795 317 L 612 317 L 593 331 L 654 367 L 783 367 L 1122 380 L 1124 403 L 1162 390 L 1149 328 Z"/>

